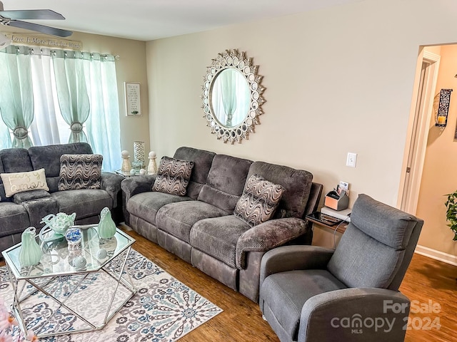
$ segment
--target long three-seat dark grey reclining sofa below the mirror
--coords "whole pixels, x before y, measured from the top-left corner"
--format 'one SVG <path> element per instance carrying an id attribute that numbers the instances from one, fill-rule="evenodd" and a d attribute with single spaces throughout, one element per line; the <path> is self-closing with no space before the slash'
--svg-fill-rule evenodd
<path id="1" fill-rule="evenodd" d="M 174 159 L 194 164 L 186 194 L 153 191 L 156 175 L 126 178 L 121 182 L 126 224 L 258 301 L 263 254 L 283 244 L 311 244 L 311 224 L 303 218 L 316 210 L 322 185 L 304 170 L 192 147 L 179 147 Z M 273 217 L 251 227 L 233 213 L 253 175 L 280 185 L 283 192 Z"/>

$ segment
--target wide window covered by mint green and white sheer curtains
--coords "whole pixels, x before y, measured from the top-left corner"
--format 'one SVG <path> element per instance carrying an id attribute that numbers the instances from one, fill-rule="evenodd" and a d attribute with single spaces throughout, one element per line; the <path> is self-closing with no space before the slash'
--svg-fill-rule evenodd
<path id="1" fill-rule="evenodd" d="M 89 142 L 120 167 L 114 56 L 8 46 L 0 51 L 0 148 Z"/>

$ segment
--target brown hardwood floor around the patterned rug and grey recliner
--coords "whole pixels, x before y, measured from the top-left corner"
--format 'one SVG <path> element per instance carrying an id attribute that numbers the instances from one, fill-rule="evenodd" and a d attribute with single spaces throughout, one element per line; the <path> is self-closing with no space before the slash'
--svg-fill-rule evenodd
<path id="1" fill-rule="evenodd" d="M 191 331 L 180 341 L 279 341 L 268 323 L 263 321 L 258 304 L 206 276 L 135 232 L 129 231 L 128 234 L 136 239 L 136 251 L 224 309 L 223 313 Z M 417 301 L 416 307 L 418 304 L 426 305 L 432 301 L 435 303 L 436 311 L 436 304 L 439 304 L 441 309 L 438 313 L 431 314 L 411 313 L 411 330 L 406 332 L 405 341 L 457 341 L 457 334 L 454 333 L 457 328 L 456 277 L 456 266 L 414 254 L 400 290 L 411 301 Z M 439 329 L 435 328 L 436 318 L 441 323 Z"/>

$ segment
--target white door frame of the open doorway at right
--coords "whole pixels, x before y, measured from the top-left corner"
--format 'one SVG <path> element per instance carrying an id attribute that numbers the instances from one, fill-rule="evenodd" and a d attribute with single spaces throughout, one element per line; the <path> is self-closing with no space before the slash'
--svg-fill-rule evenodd
<path id="1" fill-rule="evenodd" d="M 403 166 L 401 167 L 401 186 L 397 201 L 397 207 L 410 214 L 416 214 L 419 192 L 421 190 L 423 163 L 426 157 L 431 115 L 433 114 L 433 101 L 436 93 L 436 82 L 438 81 L 440 58 L 441 56 L 436 53 L 431 53 L 430 51 L 426 51 L 425 47 L 421 47 L 416 64 L 416 77 L 414 78 L 408 134 L 406 137 L 405 152 L 403 154 Z M 417 113 L 416 106 L 418 105 L 423 62 L 428 63 L 428 73 L 423 82 L 423 90 L 426 91 L 426 103 L 423 105 L 421 113 Z M 416 120 L 418 120 L 417 125 L 414 124 Z M 415 129 L 416 134 L 414 134 Z M 408 165 L 410 153 L 413 151 L 412 148 L 416 150 L 416 153 L 414 156 L 411 156 L 413 159 L 411 160 L 411 165 Z M 408 167 L 411 167 L 409 180 L 406 177 Z"/>

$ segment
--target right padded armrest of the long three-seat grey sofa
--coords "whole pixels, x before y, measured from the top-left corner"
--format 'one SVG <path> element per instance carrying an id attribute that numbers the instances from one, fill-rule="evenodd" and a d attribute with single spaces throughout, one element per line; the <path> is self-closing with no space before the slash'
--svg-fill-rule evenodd
<path id="1" fill-rule="evenodd" d="M 236 242 L 236 267 L 244 269 L 246 252 L 266 252 L 304 234 L 306 221 L 296 217 L 271 219 L 248 229 Z"/>

